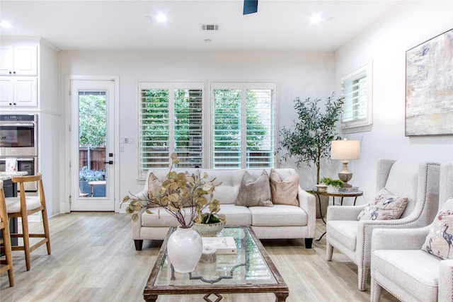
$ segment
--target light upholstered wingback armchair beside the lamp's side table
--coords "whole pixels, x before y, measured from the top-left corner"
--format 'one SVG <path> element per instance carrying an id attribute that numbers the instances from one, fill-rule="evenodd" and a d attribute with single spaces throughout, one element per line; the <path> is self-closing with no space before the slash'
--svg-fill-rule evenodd
<path id="1" fill-rule="evenodd" d="M 400 219 L 357 221 L 365 205 L 328 207 L 326 259 L 332 260 L 333 248 L 350 258 L 357 265 L 360 291 L 365 291 L 367 284 L 374 228 L 419 228 L 432 221 L 439 199 L 439 167 L 438 163 L 378 161 L 377 191 L 385 187 L 408 198 Z"/>

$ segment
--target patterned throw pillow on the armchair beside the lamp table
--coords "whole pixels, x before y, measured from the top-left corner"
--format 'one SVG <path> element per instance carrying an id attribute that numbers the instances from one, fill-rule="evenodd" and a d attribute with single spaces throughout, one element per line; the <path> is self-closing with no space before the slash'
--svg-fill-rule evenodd
<path id="1" fill-rule="evenodd" d="M 397 197 L 384 187 L 377 193 L 374 202 L 362 209 L 357 220 L 399 219 L 406 209 L 406 204 L 406 197 Z"/>

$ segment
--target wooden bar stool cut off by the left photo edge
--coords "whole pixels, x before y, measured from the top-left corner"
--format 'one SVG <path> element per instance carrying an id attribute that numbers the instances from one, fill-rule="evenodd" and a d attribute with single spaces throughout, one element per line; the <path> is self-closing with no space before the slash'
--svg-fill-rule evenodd
<path id="1" fill-rule="evenodd" d="M 14 286 L 13 257 L 11 256 L 11 238 L 9 235 L 9 220 L 6 214 L 5 193 L 3 190 L 3 180 L 0 180 L 0 230 L 3 236 L 0 243 L 3 243 L 1 250 L 4 251 L 5 260 L 0 260 L 3 265 L 0 273 L 8 271 L 9 286 Z"/>

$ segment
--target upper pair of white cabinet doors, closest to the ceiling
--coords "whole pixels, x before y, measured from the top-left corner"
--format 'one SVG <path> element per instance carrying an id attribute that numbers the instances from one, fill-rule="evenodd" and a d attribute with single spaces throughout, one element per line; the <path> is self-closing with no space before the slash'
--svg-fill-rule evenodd
<path id="1" fill-rule="evenodd" d="M 0 75 L 38 76 L 38 47 L 2 45 Z"/>

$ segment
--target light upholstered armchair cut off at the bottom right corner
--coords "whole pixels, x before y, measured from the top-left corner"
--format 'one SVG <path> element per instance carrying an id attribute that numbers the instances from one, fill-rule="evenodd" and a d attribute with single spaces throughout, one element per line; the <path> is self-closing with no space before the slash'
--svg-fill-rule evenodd
<path id="1" fill-rule="evenodd" d="M 453 197 L 453 163 L 440 166 L 439 209 Z M 453 260 L 421 250 L 431 226 L 373 231 L 371 301 L 381 289 L 401 301 L 452 301 Z"/>

